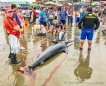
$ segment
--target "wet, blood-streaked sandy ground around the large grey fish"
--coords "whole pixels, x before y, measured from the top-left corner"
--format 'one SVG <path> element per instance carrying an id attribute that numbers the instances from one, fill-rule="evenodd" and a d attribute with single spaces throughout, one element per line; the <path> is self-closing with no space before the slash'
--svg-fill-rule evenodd
<path id="1" fill-rule="evenodd" d="M 12 65 L 8 60 L 10 49 L 1 22 L 0 27 L 0 86 L 106 86 L 106 35 L 100 30 L 95 32 L 90 54 L 87 52 L 87 41 L 80 54 L 79 41 L 76 40 L 68 47 L 68 55 L 64 52 L 55 55 L 44 65 L 35 68 L 35 77 L 32 78 L 17 70 L 30 65 L 38 54 L 52 45 L 51 36 L 34 36 L 30 27 L 22 39 L 26 49 L 17 55 L 22 63 Z M 75 27 L 67 28 L 66 32 L 66 41 L 73 40 L 74 33 L 79 33 Z"/>

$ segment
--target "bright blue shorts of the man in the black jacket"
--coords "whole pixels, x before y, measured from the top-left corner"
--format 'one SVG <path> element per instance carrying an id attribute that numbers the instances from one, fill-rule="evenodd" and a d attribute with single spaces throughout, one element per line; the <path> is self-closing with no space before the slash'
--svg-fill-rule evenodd
<path id="1" fill-rule="evenodd" d="M 93 28 L 91 28 L 91 29 L 83 28 L 82 32 L 81 32 L 81 40 L 85 40 L 86 38 L 88 40 L 92 40 L 93 39 L 93 33 L 94 33 Z"/>

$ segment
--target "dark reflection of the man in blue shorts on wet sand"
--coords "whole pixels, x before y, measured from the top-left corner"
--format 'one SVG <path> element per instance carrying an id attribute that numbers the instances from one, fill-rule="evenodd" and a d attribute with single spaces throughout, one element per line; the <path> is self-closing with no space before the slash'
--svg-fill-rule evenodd
<path id="1" fill-rule="evenodd" d="M 76 77 L 78 77 L 78 81 L 83 82 L 86 79 L 91 78 L 91 74 L 93 72 L 92 68 L 89 67 L 89 61 L 90 61 L 90 55 L 86 57 L 86 59 L 83 59 L 82 54 L 79 57 L 79 65 L 74 70 L 74 74 Z"/>

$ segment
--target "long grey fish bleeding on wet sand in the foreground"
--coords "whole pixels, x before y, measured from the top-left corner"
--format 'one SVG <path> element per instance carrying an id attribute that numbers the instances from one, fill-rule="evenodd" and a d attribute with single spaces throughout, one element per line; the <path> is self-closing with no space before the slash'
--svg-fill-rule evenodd
<path id="1" fill-rule="evenodd" d="M 70 41 L 70 42 L 72 42 L 72 41 Z M 67 44 L 70 42 L 65 42 L 65 41 L 54 42 L 54 45 L 48 47 L 44 52 L 39 54 L 37 56 L 37 59 L 33 62 L 33 64 L 25 68 L 25 71 L 28 72 L 31 76 L 33 76 L 33 69 L 35 67 L 44 64 L 44 62 L 46 60 L 50 59 L 51 57 L 53 57 L 57 53 L 60 53 L 63 51 L 68 53 Z"/>

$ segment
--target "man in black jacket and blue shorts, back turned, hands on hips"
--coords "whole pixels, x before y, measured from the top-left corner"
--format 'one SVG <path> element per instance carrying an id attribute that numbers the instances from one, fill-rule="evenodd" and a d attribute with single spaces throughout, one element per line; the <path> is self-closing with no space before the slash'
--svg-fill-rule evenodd
<path id="1" fill-rule="evenodd" d="M 88 39 L 88 52 L 91 51 L 92 39 L 94 35 L 94 30 L 99 28 L 100 22 L 97 16 L 92 14 L 92 8 L 87 8 L 87 15 L 82 17 L 78 23 L 79 29 L 82 29 L 81 32 L 81 41 L 80 41 L 80 51 L 83 50 L 83 44 L 85 39 Z"/>

